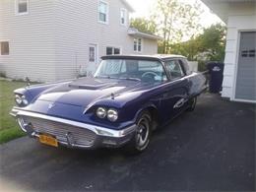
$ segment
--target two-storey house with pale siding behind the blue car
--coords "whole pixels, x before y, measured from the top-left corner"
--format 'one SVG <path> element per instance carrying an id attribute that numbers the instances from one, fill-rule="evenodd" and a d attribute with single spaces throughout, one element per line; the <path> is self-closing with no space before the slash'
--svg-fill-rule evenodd
<path id="1" fill-rule="evenodd" d="M 102 55 L 157 53 L 131 12 L 125 0 L 1 0 L 0 72 L 48 82 L 94 73 Z"/>

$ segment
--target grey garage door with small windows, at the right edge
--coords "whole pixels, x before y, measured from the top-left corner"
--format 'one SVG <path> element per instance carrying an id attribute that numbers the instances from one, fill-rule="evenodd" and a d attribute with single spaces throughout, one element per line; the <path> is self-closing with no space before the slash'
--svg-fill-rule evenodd
<path id="1" fill-rule="evenodd" d="M 241 32 L 235 98 L 256 101 L 256 32 Z"/>

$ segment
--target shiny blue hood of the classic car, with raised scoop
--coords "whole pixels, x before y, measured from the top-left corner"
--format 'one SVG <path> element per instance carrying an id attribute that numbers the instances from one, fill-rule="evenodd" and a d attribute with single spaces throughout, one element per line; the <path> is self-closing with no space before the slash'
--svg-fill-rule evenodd
<path id="1" fill-rule="evenodd" d="M 46 90 L 37 99 L 88 106 L 100 98 L 140 91 L 149 85 L 151 84 L 133 80 L 83 78 Z"/>

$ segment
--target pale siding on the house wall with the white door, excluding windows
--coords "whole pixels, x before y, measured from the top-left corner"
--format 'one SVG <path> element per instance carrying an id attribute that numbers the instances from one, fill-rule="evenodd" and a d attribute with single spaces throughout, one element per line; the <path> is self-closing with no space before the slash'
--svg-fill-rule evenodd
<path id="1" fill-rule="evenodd" d="M 106 46 L 120 47 L 122 54 L 133 54 L 133 37 L 127 34 L 128 25 L 120 24 L 120 0 L 104 0 L 109 5 L 108 24 L 97 22 L 98 1 L 59 0 L 55 5 L 57 79 L 78 75 L 78 71 L 94 72 L 89 64 L 89 44 L 97 45 L 97 63 L 105 55 Z M 129 16 L 127 15 L 127 18 Z M 158 52 L 157 40 L 144 39 L 142 53 Z"/>

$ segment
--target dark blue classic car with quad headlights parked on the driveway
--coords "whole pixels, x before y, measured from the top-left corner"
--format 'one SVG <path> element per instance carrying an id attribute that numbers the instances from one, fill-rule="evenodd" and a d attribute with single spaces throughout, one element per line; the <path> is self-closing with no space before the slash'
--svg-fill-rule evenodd
<path id="1" fill-rule="evenodd" d="M 50 146 L 144 151 L 152 132 L 192 111 L 206 78 L 178 55 L 103 56 L 93 78 L 16 90 L 11 115 Z"/>

